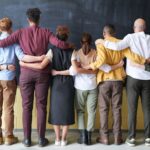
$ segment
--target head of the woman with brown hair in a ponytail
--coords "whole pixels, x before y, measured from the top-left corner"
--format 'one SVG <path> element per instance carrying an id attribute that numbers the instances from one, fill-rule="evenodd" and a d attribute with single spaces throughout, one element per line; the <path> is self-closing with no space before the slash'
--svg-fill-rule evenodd
<path id="1" fill-rule="evenodd" d="M 84 32 L 81 37 L 81 46 L 84 54 L 88 54 L 91 50 L 92 36 L 89 33 Z"/>

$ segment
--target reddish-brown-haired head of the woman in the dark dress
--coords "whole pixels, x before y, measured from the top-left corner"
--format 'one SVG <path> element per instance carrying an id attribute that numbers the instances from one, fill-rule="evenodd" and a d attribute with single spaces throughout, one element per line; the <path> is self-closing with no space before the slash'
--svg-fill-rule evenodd
<path id="1" fill-rule="evenodd" d="M 65 25 L 57 26 L 56 35 L 57 35 L 58 39 L 60 39 L 62 41 L 67 41 L 68 35 L 69 35 L 69 28 Z"/>

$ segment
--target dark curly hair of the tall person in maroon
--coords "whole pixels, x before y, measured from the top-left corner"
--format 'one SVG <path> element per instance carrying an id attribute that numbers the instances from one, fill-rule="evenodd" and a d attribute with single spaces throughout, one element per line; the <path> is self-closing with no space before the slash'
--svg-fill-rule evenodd
<path id="1" fill-rule="evenodd" d="M 41 11 L 39 8 L 29 8 L 26 15 L 30 21 L 34 23 L 39 23 Z"/>

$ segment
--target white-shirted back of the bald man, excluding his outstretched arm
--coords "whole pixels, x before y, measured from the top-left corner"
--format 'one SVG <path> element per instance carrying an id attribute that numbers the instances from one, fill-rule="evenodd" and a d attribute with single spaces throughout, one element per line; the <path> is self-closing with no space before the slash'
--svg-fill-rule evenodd
<path id="1" fill-rule="evenodd" d="M 128 34 L 125 39 L 129 41 L 129 47 L 133 52 L 144 58 L 150 57 L 150 35 L 137 32 Z M 129 59 L 127 59 L 126 73 L 136 79 L 150 79 L 150 72 L 145 71 L 144 68 L 131 65 Z"/>

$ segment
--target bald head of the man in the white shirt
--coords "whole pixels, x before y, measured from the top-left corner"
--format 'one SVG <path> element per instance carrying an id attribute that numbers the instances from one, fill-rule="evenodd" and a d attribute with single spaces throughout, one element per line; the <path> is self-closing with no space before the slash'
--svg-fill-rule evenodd
<path id="1" fill-rule="evenodd" d="M 138 18 L 134 21 L 133 30 L 134 32 L 143 32 L 146 29 L 146 22 L 142 18 Z"/>

